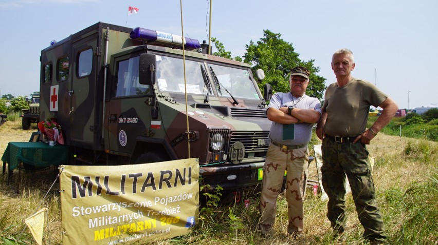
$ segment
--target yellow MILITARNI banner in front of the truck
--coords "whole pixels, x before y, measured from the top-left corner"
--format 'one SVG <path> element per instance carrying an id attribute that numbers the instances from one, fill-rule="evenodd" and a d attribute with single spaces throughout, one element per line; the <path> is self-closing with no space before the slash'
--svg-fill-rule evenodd
<path id="1" fill-rule="evenodd" d="M 61 166 L 62 243 L 145 243 L 187 234 L 199 202 L 197 158 Z"/>

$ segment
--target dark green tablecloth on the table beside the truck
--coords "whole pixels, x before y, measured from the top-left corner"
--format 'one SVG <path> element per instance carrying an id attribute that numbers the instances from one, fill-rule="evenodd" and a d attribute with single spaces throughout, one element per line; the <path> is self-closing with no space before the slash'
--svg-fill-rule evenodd
<path id="1" fill-rule="evenodd" d="M 10 171 L 20 162 L 35 167 L 67 164 L 67 147 L 59 144 L 49 146 L 43 142 L 9 142 L 2 161 L 8 163 Z"/>

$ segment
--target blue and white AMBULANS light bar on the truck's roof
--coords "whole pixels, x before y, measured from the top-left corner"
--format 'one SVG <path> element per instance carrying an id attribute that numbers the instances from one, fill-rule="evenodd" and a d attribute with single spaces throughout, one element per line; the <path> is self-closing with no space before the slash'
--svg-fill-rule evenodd
<path id="1" fill-rule="evenodd" d="M 153 31 L 136 27 L 131 31 L 129 35 L 132 39 L 143 39 L 145 41 L 157 41 L 161 43 L 174 44 L 182 46 L 183 38 L 179 35 L 169 34 L 166 32 Z M 184 43 L 186 49 L 199 49 L 199 41 L 190 37 L 184 37 Z"/>

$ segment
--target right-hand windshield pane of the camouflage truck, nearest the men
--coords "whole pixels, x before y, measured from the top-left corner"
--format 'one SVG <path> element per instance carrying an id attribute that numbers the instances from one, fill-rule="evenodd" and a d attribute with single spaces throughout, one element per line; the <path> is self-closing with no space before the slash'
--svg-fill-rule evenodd
<path id="1" fill-rule="evenodd" d="M 226 97 L 238 97 L 247 99 L 259 99 L 259 94 L 254 87 L 247 69 L 218 66 L 209 64 L 212 73 L 217 77 L 218 84 L 215 84 L 219 95 Z M 225 91 L 228 90 L 229 93 Z"/>

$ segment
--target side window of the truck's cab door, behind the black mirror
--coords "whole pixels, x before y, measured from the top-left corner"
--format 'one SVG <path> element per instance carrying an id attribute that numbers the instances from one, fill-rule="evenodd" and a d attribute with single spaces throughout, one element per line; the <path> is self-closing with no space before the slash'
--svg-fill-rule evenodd
<path id="1" fill-rule="evenodd" d="M 139 56 L 118 62 L 116 96 L 151 95 L 149 85 L 139 83 Z"/>

